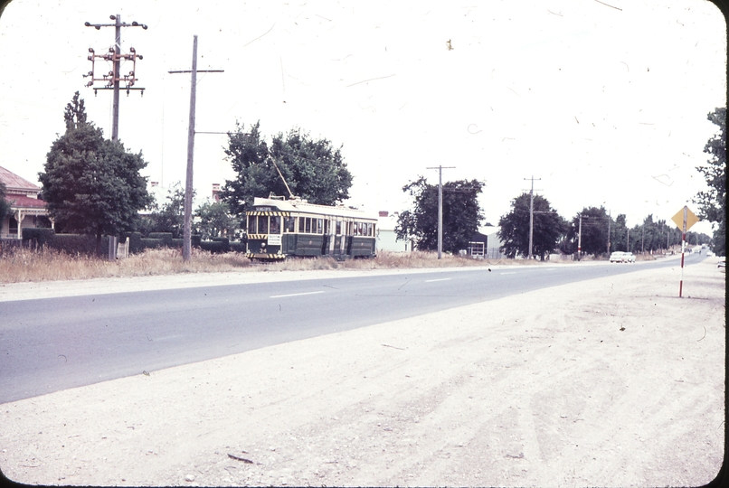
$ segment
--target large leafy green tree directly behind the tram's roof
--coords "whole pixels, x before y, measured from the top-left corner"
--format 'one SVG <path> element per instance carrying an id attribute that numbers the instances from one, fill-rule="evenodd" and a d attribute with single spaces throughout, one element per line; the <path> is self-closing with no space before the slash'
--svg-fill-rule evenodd
<path id="1" fill-rule="evenodd" d="M 288 196 L 289 190 L 321 205 L 349 198 L 352 174 L 346 169 L 341 146 L 335 148 L 327 139 L 315 140 L 299 128 L 273 136 L 268 145 L 260 134 L 260 122 L 248 133 L 243 128 L 236 123 L 225 149 L 237 176 L 226 180 L 221 198 L 234 214 L 245 213 L 255 197 L 268 197 L 270 193 Z"/>

